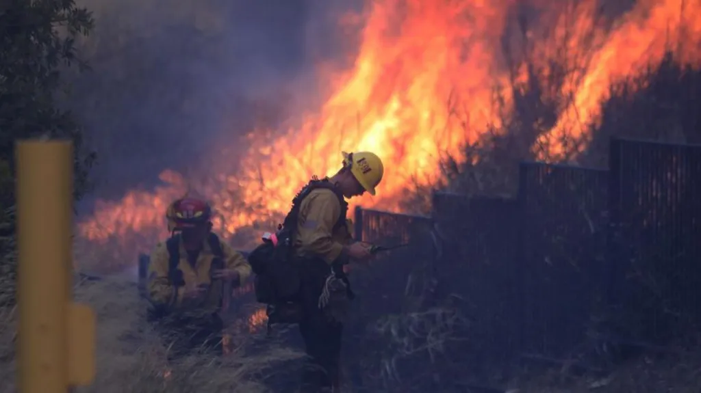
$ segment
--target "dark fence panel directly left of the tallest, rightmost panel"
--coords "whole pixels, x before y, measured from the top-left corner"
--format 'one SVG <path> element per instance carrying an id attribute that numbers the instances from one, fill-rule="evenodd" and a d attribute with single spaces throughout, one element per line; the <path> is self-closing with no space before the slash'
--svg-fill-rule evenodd
<path id="1" fill-rule="evenodd" d="M 585 341 L 604 269 L 608 171 L 519 169 L 522 348 L 562 357 Z"/>

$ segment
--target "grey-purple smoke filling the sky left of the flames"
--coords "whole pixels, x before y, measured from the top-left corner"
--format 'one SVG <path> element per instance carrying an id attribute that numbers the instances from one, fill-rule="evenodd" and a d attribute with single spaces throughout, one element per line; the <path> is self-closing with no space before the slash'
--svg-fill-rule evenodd
<path id="1" fill-rule="evenodd" d="M 275 127 L 290 116 L 290 83 L 318 57 L 336 55 L 332 21 L 353 3 L 81 5 L 93 10 L 95 29 L 79 44 L 90 69 L 72 76 L 69 106 L 98 160 L 95 190 L 83 210 L 96 198 L 118 199 L 132 187 L 156 185 L 163 169 L 195 165 L 221 138 L 233 143 L 254 125 Z M 245 154 L 245 145 L 240 149 Z"/>

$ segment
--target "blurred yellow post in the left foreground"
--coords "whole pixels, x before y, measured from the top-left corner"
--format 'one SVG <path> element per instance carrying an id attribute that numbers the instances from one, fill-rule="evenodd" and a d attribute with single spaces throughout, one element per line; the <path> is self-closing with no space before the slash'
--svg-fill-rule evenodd
<path id="1" fill-rule="evenodd" d="M 18 208 L 18 386 L 64 393 L 95 373 L 95 315 L 72 303 L 73 147 L 16 145 Z"/>

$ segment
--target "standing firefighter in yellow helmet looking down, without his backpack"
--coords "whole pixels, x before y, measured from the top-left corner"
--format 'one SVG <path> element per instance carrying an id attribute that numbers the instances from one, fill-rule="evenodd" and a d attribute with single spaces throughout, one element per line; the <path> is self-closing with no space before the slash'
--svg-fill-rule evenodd
<path id="1" fill-rule="evenodd" d="M 294 253 L 304 272 L 299 329 L 310 359 L 302 378 L 304 392 L 338 389 L 343 323 L 331 298 L 334 293 L 352 297 L 343 264 L 348 259 L 372 257 L 369 245 L 354 243 L 351 238 L 345 199 L 365 192 L 374 195 L 383 173 L 382 161 L 374 153 L 343 152 L 341 169 L 330 178 L 316 180 L 325 185 L 315 185 L 312 180 L 307 187 L 315 189 L 299 201 L 293 238 Z"/>

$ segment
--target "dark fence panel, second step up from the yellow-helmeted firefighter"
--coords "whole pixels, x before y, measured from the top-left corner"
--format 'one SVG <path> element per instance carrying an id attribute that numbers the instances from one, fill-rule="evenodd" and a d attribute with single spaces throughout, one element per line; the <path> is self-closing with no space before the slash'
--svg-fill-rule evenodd
<path id="1" fill-rule="evenodd" d="M 442 235 L 441 287 L 458 295 L 471 321 L 464 332 L 471 364 L 484 373 L 517 349 L 520 266 L 515 263 L 519 215 L 515 199 L 437 192 L 433 219 Z M 475 370 L 477 367 L 475 367 Z"/>

